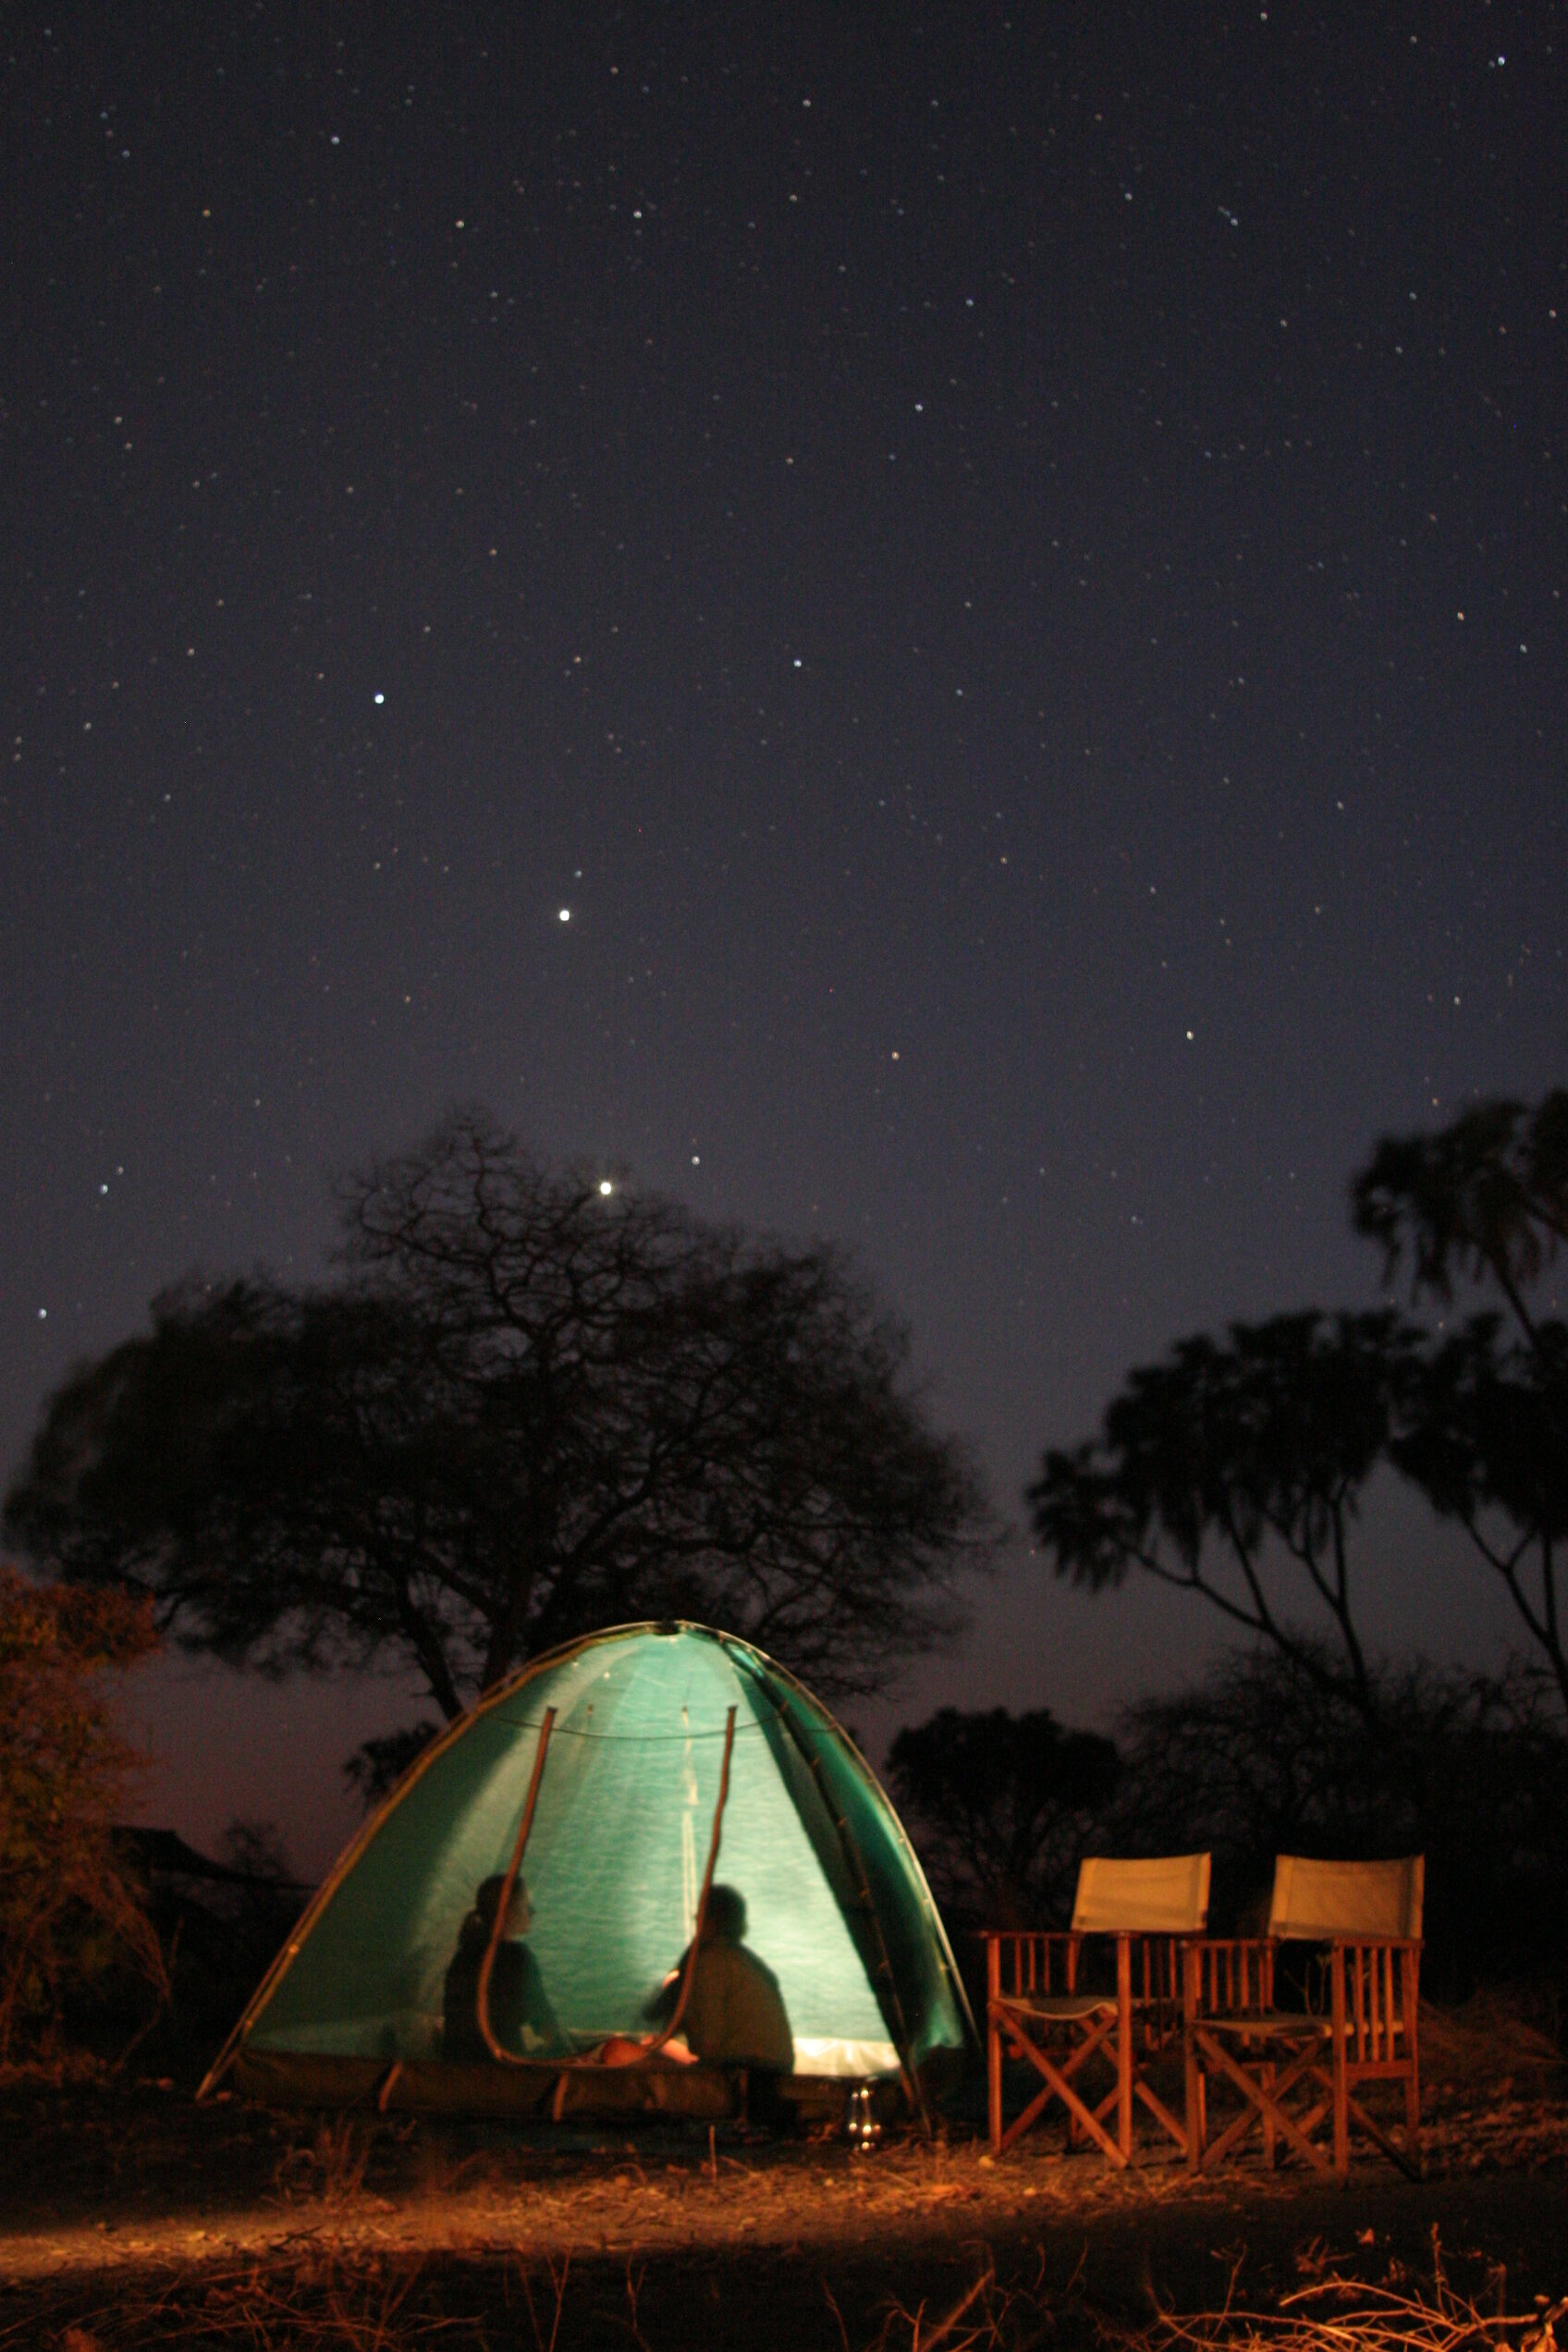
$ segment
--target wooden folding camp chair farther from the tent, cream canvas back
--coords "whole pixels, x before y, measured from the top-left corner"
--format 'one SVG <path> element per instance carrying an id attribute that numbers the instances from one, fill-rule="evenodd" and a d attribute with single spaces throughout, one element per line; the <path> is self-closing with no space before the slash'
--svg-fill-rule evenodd
<path id="1" fill-rule="evenodd" d="M 1420 2164 L 1420 1924 L 1425 1860 L 1309 1863 L 1281 1853 L 1267 1938 L 1185 1947 L 1187 2166 L 1208 2171 L 1262 2133 L 1265 2164 L 1286 2140 L 1316 2171 L 1349 2176 L 1349 2131 L 1401 2171 Z M 1328 2011 L 1279 2006 L 1279 1947 L 1326 1947 Z M 1241 2112 L 1208 2138 L 1208 2084 L 1241 2093 Z M 1354 2096 L 1401 2082 L 1406 2147 Z M 1316 2138 L 1331 2122 L 1331 2147 Z"/>

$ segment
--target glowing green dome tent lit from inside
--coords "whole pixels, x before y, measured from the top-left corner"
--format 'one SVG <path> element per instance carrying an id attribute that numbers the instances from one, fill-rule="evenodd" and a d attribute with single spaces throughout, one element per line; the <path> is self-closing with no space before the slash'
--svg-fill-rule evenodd
<path id="1" fill-rule="evenodd" d="M 475 1889 L 520 1842 L 529 1950 L 571 2056 L 442 2056 L 442 1985 Z M 778 1978 L 795 2091 L 940 2082 L 978 2053 L 910 1842 L 870 1766 L 792 1675 L 705 1625 L 621 1625 L 489 1691 L 327 1877 L 207 2084 L 273 2098 L 726 2112 L 705 2067 L 595 2067 L 646 2034 L 712 1856 Z"/>

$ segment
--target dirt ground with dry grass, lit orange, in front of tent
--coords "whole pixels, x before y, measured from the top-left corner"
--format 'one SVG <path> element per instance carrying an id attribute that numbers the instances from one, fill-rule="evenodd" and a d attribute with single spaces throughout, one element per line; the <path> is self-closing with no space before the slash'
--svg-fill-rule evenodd
<path id="1" fill-rule="evenodd" d="M 1255 2161 L 1190 2183 L 1152 2152 L 1114 2176 L 1060 2133 L 1001 2161 L 964 2136 L 860 2154 L 736 2126 L 320 2119 L 14 2077 L 0 2352 L 961 2352 L 1046 2336 L 1070 2352 L 1154 2343 L 1159 2310 L 1279 2317 L 1335 2270 L 1429 2305 L 1434 2253 L 1488 2314 L 1523 2321 L 1533 2298 L 1568 2296 L 1561 2082 L 1455 2067 L 1432 2086 L 1425 2152 L 1422 2180 L 1368 2154 L 1347 2190 Z M 1465 2336 L 1422 2326 L 1392 2340 L 1441 2352 Z M 1227 2340 L 1246 2336 L 1232 2324 Z"/>

